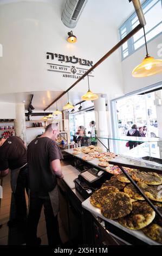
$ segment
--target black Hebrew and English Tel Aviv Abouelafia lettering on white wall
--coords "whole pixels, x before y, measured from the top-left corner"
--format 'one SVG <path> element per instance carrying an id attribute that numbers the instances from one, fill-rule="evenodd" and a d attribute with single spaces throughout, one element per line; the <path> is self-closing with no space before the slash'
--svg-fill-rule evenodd
<path id="1" fill-rule="evenodd" d="M 92 60 L 81 59 L 75 56 L 47 52 L 47 71 L 58 72 L 65 78 L 79 79 L 85 72 L 93 66 Z M 89 76 L 94 77 L 92 72 Z"/>

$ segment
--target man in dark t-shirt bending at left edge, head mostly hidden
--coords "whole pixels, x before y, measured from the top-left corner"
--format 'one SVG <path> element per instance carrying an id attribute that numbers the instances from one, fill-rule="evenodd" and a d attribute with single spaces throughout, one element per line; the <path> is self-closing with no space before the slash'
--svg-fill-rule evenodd
<path id="1" fill-rule="evenodd" d="M 9 227 L 25 224 L 27 220 L 27 204 L 25 189 L 28 193 L 27 149 L 24 142 L 17 136 L 8 139 L 0 138 L 0 177 L 11 170 L 11 188 L 16 204 L 16 218 L 8 222 Z"/>

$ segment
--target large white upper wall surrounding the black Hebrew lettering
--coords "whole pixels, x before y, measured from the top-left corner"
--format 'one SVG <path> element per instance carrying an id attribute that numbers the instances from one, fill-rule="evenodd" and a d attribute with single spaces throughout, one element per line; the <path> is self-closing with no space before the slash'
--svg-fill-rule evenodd
<path id="1" fill-rule="evenodd" d="M 92 3 L 91 3 L 92 4 Z M 66 41 L 69 28 L 61 21 L 59 5 L 39 2 L 18 2 L 1 5 L 0 31 L 3 57 L 0 62 L 1 93 L 65 90 L 76 80 L 47 71 L 46 52 L 65 54 L 98 61 L 118 42 L 118 30 L 108 22 L 83 11 L 74 29 L 78 41 Z M 88 67 L 87 67 L 88 68 Z M 110 98 L 123 94 L 119 51 L 94 71 L 90 87 Z M 87 90 L 87 80 L 73 89 Z"/>

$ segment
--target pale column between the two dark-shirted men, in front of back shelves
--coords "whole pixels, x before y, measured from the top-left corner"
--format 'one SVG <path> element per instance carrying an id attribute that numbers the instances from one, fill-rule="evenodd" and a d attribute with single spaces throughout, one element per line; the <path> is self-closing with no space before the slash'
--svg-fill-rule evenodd
<path id="1" fill-rule="evenodd" d="M 25 107 L 23 103 L 16 104 L 15 134 L 26 144 Z"/>

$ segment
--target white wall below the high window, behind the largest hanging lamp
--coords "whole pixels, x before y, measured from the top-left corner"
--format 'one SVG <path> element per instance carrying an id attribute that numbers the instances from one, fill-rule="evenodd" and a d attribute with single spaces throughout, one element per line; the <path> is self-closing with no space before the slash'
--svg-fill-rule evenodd
<path id="1" fill-rule="evenodd" d="M 157 38 L 153 39 L 147 44 L 148 53 L 150 56 L 154 57 L 155 59 L 162 58 L 162 51 L 159 51 L 162 42 L 162 34 L 157 36 Z M 162 45 L 161 45 L 162 47 Z M 161 57 L 158 56 L 161 53 Z M 145 46 L 141 47 L 138 51 L 134 52 L 131 56 L 127 57 L 125 60 L 122 61 L 122 74 L 124 77 L 124 93 L 130 93 L 134 90 L 138 90 L 147 86 L 151 86 L 154 83 L 162 81 L 162 74 L 153 75 L 150 77 L 142 77 L 142 78 L 135 78 L 132 76 L 132 70 L 135 66 L 139 65 L 146 56 Z"/>

